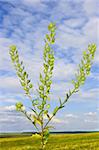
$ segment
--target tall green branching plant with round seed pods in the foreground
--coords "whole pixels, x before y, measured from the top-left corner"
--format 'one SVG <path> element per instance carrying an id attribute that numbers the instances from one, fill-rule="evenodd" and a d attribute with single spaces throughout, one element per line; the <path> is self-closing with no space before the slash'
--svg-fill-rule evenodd
<path id="1" fill-rule="evenodd" d="M 87 75 L 90 74 L 90 69 L 92 65 L 92 60 L 94 59 L 94 54 L 96 51 L 96 45 L 91 44 L 88 46 L 88 49 L 83 52 L 83 58 L 81 63 L 79 64 L 79 69 L 76 74 L 75 80 L 72 80 L 72 84 L 74 85 L 73 89 L 69 90 L 66 93 L 66 97 L 64 100 L 59 98 L 59 105 L 56 106 L 53 112 L 49 113 L 50 108 L 50 89 L 52 84 L 52 74 L 54 69 L 54 51 L 52 49 L 52 45 L 55 43 L 55 31 L 56 25 L 54 23 L 50 23 L 48 26 L 49 33 L 46 34 L 45 37 L 45 46 L 43 52 L 43 73 L 40 73 L 39 76 L 39 85 L 37 89 L 37 99 L 33 99 L 31 96 L 31 92 L 33 89 L 33 84 L 28 77 L 27 72 L 23 66 L 23 62 L 19 59 L 18 50 L 15 45 L 10 47 L 10 56 L 12 63 L 17 72 L 17 76 L 19 77 L 20 83 L 25 91 L 26 96 L 31 100 L 32 107 L 30 110 L 32 113 L 29 115 L 25 110 L 25 107 L 21 102 L 16 104 L 16 109 L 22 113 L 32 122 L 35 128 L 38 131 L 39 136 L 41 137 L 41 145 L 42 149 L 45 148 L 49 137 L 49 130 L 52 128 L 49 126 L 49 122 L 53 119 L 56 113 L 62 109 L 68 99 L 76 92 L 78 92 L 79 87 L 84 84 Z M 44 116 L 47 117 L 47 122 L 44 120 Z"/>

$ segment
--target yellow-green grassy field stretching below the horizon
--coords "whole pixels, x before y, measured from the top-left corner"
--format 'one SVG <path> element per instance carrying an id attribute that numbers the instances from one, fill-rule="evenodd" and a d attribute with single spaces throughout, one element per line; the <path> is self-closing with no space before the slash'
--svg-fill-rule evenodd
<path id="1" fill-rule="evenodd" d="M 40 150 L 38 136 L 0 138 L 0 150 Z M 46 150 L 99 150 L 99 133 L 51 135 Z"/>

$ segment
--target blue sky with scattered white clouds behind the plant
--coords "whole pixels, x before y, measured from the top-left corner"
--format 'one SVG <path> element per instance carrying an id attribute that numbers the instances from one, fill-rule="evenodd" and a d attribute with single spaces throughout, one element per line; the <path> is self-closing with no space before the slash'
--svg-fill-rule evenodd
<path id="1" fill-rule="evenodd" d="M 43 48 L 47 26 L 57 26 L 55 67 L 51 87 L 51 109 L 59 97 L 72 87 L 82 52 L 96 43 L 97 51 L 91 74 L 80 91 L 55 116 L 54 131 L 99 130 L 99 1 L 98 0 L 0 0 L 0 132 L 35 131 L 32 124 L 15 110 L 15 103 L 25 106 L 25 97 L 9 56 L 9 46 L 17 46 L 20 59 L 38 88 L 42 71 Z"/>

